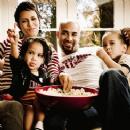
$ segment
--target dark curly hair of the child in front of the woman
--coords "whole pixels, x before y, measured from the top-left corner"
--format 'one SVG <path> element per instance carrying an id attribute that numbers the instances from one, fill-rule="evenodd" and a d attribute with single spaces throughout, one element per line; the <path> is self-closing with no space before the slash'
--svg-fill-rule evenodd
<path id="1" fill-rule="evenodd" d="M 25 54 L 28 50 L 28 47 L 33 44 L 34 42 L 38 42 L 43 46 L 43 52 L 44 52 L 44 64 L 47 65 L 48 62 L 51 60 L 52 50 L 51 47 L 47 44 L 47 41 L 41 37 L 30 37 L 27 38 L 20 50 L 20 57 L 24 59 Z"/>

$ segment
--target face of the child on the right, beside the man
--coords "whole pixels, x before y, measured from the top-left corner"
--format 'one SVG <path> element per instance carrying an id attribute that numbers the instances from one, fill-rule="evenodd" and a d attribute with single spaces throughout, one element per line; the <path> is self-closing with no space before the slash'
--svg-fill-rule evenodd
<path id="1" fill-rule="evenodd" d="M 126 52 L 126 45 L 122 43 L 117 33 L 109 33 L 102 39 L 102 46 L 107 54 L 115 59 Z"/>

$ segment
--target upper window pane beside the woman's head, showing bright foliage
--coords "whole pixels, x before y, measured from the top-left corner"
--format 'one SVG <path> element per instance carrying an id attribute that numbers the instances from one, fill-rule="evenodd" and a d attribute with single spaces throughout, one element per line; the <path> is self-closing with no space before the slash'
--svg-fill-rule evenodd
<path id="1" fill-rule="evenodd" d="M 40 14 L 40 30 L 56 28 L 56 0 L 32 0 Z"/>

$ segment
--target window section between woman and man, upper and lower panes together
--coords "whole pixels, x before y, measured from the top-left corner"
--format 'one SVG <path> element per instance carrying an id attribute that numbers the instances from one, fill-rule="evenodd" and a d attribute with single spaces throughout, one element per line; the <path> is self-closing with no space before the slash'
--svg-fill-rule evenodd
<path id="1" fill-rule="evenodd" d="M 32 0 L 40 14 L 40 35 L 56 46 L 56 0 Z M 54 30 L 54 31 L 53 31 Z"/>

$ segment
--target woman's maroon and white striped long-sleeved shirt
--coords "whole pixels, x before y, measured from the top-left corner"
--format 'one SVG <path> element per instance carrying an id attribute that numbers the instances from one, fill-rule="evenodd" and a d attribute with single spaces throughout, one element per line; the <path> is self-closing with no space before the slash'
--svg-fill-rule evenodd
<path id="1" fill-rule="evenodd" d="M 18 48 L 22 46 L 22 42 L 19 42 Z M 12 70 L 10 67 L 9 56 L 11 54 L 11 44 L 4 40 L 0 43 L 0 58 L 5 58 L 5 64 L 3 67 L 3 73 L 0 76 L 0 90 L 8 89 L 12 83 Z M 59 59 L 57 52 L 53 49 L 51 61 L 48 63 L 48 73 L 50 78 L 56 79 L 59 75 Z"/>

